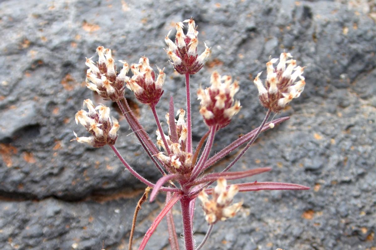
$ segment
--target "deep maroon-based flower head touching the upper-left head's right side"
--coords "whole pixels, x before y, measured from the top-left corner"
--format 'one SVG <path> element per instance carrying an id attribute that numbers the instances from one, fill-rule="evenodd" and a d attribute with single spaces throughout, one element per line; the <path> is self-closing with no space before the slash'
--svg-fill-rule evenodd
<path id="1" fill-rule="evenodd" d="M 135 93 L 138 101 L 150 105 L 157 104 L 163 94 L 162 86 L 166 77 L 164 69 L 158 68 L 159 75 L 155 79 L 155 72 L 145 56 L 140 58 L 138 64 L 132 64 L 130 69 L 133 76 L 127 82 L 127 87 Z"/>

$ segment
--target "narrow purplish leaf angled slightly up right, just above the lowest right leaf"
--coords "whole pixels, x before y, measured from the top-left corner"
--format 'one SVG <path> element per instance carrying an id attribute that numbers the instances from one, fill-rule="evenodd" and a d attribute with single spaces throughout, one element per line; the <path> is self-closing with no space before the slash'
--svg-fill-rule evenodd
<path id="1" fill-rule="evenodd" d="M 204 182 L 216 181 L 218 178 L 223 177 L 226 180 L 235 180 L 240 178 L 245 178 L 253 175 L 258 175 L 260 173 L 268 172 L 271 170 L 271 167 L 259 167 L 257 169 L 250 169 L 246 171 L 239 172 L 221 172 L 221 173 L 210 173 L 203 176 L 203 178 L 195 181 L 193 185 L 197 185 Z"/>

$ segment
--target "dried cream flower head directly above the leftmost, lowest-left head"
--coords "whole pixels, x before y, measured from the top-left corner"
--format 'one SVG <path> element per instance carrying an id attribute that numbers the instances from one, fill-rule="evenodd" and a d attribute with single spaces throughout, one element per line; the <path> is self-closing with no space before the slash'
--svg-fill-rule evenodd
<path id="1" fill-rule="evenodd" d="M 125 61 L 120 61 L 123 63 L 123 68 L 117 74 L 111 50 L 99 46 L 97 53 L 99 56 L 97 63 L 91 58 L 86 59 L 85 64 L 89 67 L 86 72 L 86 86 L 105 100 L 118 101 L 124 97 L 125 83 L 129 80 L 126 76 L 129 65 Z"/>

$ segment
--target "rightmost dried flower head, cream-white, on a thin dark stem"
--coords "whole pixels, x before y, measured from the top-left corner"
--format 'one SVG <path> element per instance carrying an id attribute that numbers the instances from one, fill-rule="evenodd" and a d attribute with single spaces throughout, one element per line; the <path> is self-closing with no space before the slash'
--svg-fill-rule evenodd
<path id="1" fill-rule="evenodd" d="M 277 58 L 266 63 L 265 87 L 259 78 L 262 72 L 257 74 L 253 81 L 258 89 L 261 104 L 273 112 L 282 110 L 292 99 L 298 98 L 304 90 L 305 81 L 302 76 L 304 67 L 296 66 L 296 60 L 287 60 L 291 57 L 290 53 L 282 53 L 277 68 L 273 67 L 273 64 L 278 61 Z M 298 77 L 300 80 L 295 82 Z"/>

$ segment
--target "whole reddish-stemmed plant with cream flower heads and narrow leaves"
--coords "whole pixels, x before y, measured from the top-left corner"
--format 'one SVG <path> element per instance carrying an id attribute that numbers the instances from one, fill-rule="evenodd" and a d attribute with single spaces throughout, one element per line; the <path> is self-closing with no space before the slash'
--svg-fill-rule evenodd
<path id="1" fill-rule="evenodd" d="M 183 32 L 183 23 L 188 23 L 186 34 Z M 176 23 L 176 30 L 176 36 L 173 41 L 168 38 L 171 31 L 165 37 L 165 42 L 168 45 L 166 52 L 175 70 L 179 74 L 185 75 L 186 111 L 183 109 L 178 110 L 176 116 L 179 116 L 179 118 L 177 120 L 172 117 L 175 111 L 173 96 L 171 96 L 169 111 L 165 116 L 168 124 L 167 135 L 162 129 L 156 111 L 156 104 L 163 94 L 163 85 L 166 77 L 163 69 L 157 67 L 159 71 L 157 76 L 150 67 L 149 59 L 143 56 L 138 63 L 134 63 L 131 66 L 125 61 L 120 61 L 123 63 L 123 68 L 120 72 L 117 72 L 111 50 L 102 46 L 97 48 L 98 62 L 94 63 L 91 58 L 86 59 L 86 65 L 89 67 L 86 74 L 86 86 L 96 91 L 102 98 L 116 102 L 139 143 L 161 173 L 158 181 L 153 183 L 133 169 L 115 147 L 119 123 L 114 117 L 110 119 L 110 108 L 102 104 L 94 107 L 89 99 L 84 101 L 84 106 L 87 106 L 88 111 L 78 111 L 75 120 L 77 124 L 82 124 L 91 136 L 77 137 L 77 134 L 74 133 L 75 139 L 73 140 L 87 143 L 94 147 L 109 145 L 126 169 L 148 186 L 135 211 L 129 249 L 132 248 L 137 212 L 141 208 L 142 202 L 147 199 L 150 188 L 153 188 L 150 194 L 150 201 L 156 198 L 159 191 L 164 191 L 167 192 L 166 204 L 159 215 L 156 216 L 152 226 L 145 233 L 142 242 L 139 244 L 139 250 L 146 248 L 150 236 L 165 216 L 167 217 L 171 249 L 179 249 L 178 234 L 175 231 L 172 214 L 169 213 L 178 201 L 180 201 L 182 209 L 185 249 L 200 250 L 208 238 L 213 225 L 218 221 L 234 217 L 241 209 L 242 202 L 233 203 L 233 197 L 238 192 L 308 189 L 305 186 L 292 183 L 257 181 L 227 186 L 226 181 L 226 179 L 242 179 L 271 170 L 270 167 L 262 167 L 239 172 L 229 171 L 250 148 L 252 143 L 255 142 L 262 131 L 274 128 L 275 125 L 288 119 L 288 117 L 282 117 L 268 122 L 272 111 L 279 112 L 293 98 L 299 97 L 305 86 L 304 77 L 302 76 L 304 68 L 296 66 L 296 60 L 291 59 L 292 56 L 289 53 L 280 55 L 276 68 L 273 67 L 273 64 L 278 59 L 271 59 L 266 64 L 267 77 L 265 85 L 259 79 L 261 73 L 254 80 L 259 91 L 261 104 L 268 108 L 264 120 L 255 130 L 249 131 L 220 151 L 212 154 L 217 131 L 227 126 L 232 117 L 241 109 L 240 102 L 234 100 L 234 95 L 239 90 L 239 83 L 233 81 L 229 75 L 221 76 L 215 71 L 211 75 L 210 86 L 206 87 L 205 90 L 201 87 L 197 90 L 197 96 L 200 100 L 200 114 L 208 126 L 206 128 L 208 131 L 202 136 L 197 145 L 194 145 L 195 143 L 192 143 L 192 117 L 194 116 L 191 114 L 190 75 L 196 74 L 204 66 L 210 55 L 210 48 L 205 44 L 205 51 L 200 56 L 197 54 L 198 32 L 192 18 Z M 133 74 L 131 78 L 127 76 L 129 69 L 131 69 Z M 300 80 L 296 81 L 298 77 Z M 149 133 L 147 133 L 135 113 L 133 113 L 127 99 L 124 98 L 126 87 L 134 92 L 138 101 L 150 105 L 150 110 L 158 127 L 156 144 L 154 144 Z M 206 173 L 216 162 L 244 144 L 246 146 L 221 172 Z M 217 185 L 211 188 L 215 181 L 217 181 Z M 209 199 L 209 195 L 212 195 L 211 199 Z M 196 198 L 201 200 L 205 219 L 209 223 L 208 232 L 197 248 L 192 234 L 194 216 L 193 207 L 191 206 Z"/>

